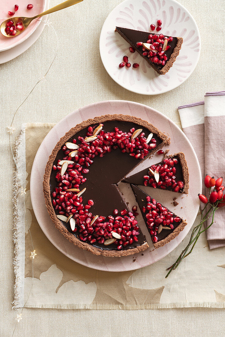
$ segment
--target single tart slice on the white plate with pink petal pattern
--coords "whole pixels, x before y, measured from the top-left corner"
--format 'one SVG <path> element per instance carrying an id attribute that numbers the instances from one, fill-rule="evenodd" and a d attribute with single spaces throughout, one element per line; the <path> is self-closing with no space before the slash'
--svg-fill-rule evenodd
<path id="1" fill-rule="evenodd" d="M 165 74 L 179 55 L 182 37 L 153 34 L 140 30 L 116 27 L 118 32 L 130 45 L 156 70 Z"/>

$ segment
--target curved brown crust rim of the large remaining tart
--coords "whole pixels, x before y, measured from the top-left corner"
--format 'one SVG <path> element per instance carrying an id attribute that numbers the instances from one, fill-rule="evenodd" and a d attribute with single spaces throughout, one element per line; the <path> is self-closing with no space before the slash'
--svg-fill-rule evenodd
<path id="1" fill-rule="evenodd" d="M 43 181 L 43 191 L 44 191 L 44 197 L 45 197 L 45 204 L 47 206 L 48 213 L 55 224 L 55 227 L 65 236 L 67 240 L 75 244 L 81 249 L 88 250 L 92 254 L 95 255 L 104 255 L 104 256 L 127 256 L 134 253 L 138 253 L 140 251 L 143 251 L 147 249 L 148 243 L 144 242 L 142 245 L 137 246 L 132 249 L 127 250 L 107 250 L 107 249 L 100 249 L 97 247 L 94 247 L 86 242 L 80 241 L 74 234 L 70 233 L 67 228 L 62 224 L 62 222 L 56 217 L 55 210 L 52 206 L 52 200 L 51 200 L 51 192 L 50 192 L 50 176 L 52 172 L 52 166 L 53 162 L 57 156 L 58 151 L 61 149 L 61 147 L 66 143 L 68 139 L 70 139 L 73 135 L 75 135 L 77 132 L 81 131 L 82 129 L 86 128 L 87 126 L 91 124 L 96 123 L 104 123 L 108 121 L 126 121 L 126 122 L 133 122 L 140 126 L 145 127 L 150 132 L 153 132 L 159 136 L 159 138 L 162 140 L 162 143 L 153 149 L 144 159 L 146 159 L 150 154 L 153 154 L 154 152 L 158 151 L 160 148 L 162 148 L 165 145 L 170 144 L 170 139 L 161 131 L 159 131 L 156 127 L 154 127 L 152 124 L 148 123 L 147 121 L 144 121 L 140 118 L 129 116 L 129 115 L 104 115 L 100 117 L 95 117 L 93 119 L 88 119 L 86 121 L 83 121 L 82 123 L 76 125 L 75 127 L 71 128 L 66 134 L 61 137 L 59 142 L 56 144 L 55 148 L 52 151 L 52 154 L 49 156 L 49 160 L 46 164 L 45 168 L 45 175 L 44 175 L 44 181 Z M 144 160 L 143 159 L 143 160 Z M 142 160 L 142 161 L 143 161 Z M 138 162 L 139 164 L 139 162 Z M 137 165 L 138 165 L 137 164 Z M 136 166 L 137 166 L 136 165 Z"/>

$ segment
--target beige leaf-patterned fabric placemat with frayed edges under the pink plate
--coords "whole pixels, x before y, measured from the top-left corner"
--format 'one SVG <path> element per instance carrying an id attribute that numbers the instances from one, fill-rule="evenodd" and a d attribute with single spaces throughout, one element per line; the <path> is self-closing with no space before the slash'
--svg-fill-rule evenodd
<path id="1" fill-rule="evenodd" d="M 192 254 L 167 279 L 166 268 L 174 263 L 190 235 L 157 263 L 127 272 L 103 272 L 84 267 L 51 244 L 34 216 L 29 188 L 35 154 L 53 125 L 28 123 L 22 127 L 16 143 L 20 174 L 16 171 L 13 185 L 16 275 L 14 307 L 224 308 L 224 248 L 210 251 L 205 233 L 200 236 Z M 23 186 L 26 186 L 26 194 L 23 195 L 20 193 L 21 180 Z M 33 247 L 37 255 L 32 270 L 30 252 Z"/>

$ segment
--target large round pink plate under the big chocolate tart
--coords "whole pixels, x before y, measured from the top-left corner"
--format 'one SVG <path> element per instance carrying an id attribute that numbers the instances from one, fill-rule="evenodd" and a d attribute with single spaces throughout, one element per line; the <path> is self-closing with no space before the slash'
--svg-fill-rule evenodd
<path id="1" fill-rule="evenodd" d="M 43 176 L 48 157 L 56 143 L 59 141 L 60 137 L 62 137 L 76 124 L 81 123 L 88 118 L 106 114 L 124 114 L 137 116 L 152 123 L 161 131 L 169 134 L 171 138 L 169 153 L 173 154 L 179 151 L 184 152 L 189 167 L 190 189 L 188 195 L 182 195 L 179 193 L 163 191 L 159 189 L 156 190 L 150 187 L 142 188 L 145 192 L 148 192 L 152 197 L 156 198 L 156 200 L 167 206 L 177 215 L 183 219 L 186 219 L 188 225 L 185 227 L 184 231 L 182 231 L 174 240 L 170 241 L 164 247 L 154 249 L 151 238 L 144 224 L 144 220 L 141 215 L 139 215 L 137 219 L 143 234 L 146 236 L 149 248 L 144 252 L 135 254 L 136 260 L 134 262 L 134 255 L 123 257 L 104 257 L 93 255 L 86 250 L 79 249 L 77 246 L 66 240 L 65 237 L 55 228 L 45 206 L 42 186 Z M 162 160 L 162 156 L 155 154 L 152 158 L 146 159 L 143 164 L 138 166 L 138 168 L 136 167 L 132 174 L 160 160 Z M 130 206 L 136 205 L 137 203 L 135 202 L 134 195 L 131 193 L 130 185 L 120 183 L 119 187 L 126 202 L 129 202 Z M 197 156 L 191 143 L 185 134 L 180 130 L 180 128 L 168 117 L 150 108 L 149 106 L 120 100 L 103 101 L 86 105 L 83 108 L 72 112 L 59 123 L 57 123 L 47 134 L 37 151 L 33 162 L 30 179 L 30 194 L 34 214 L 47 238 L 57 249 L 59 249 L 63 254 L 72 260 L 84 266 L 105 271 L 128 271 L 142 268 L 159 261 L 161 258 L 169 254 L 174 248 L 176 248 L 188 234 L 194 223 L 199 209 L 198 193 L 201 191 L 201 188 L 201 172 Z M 175 196 L 177 197 L 179 205 L 174 208 L 171 202 Z M 142 253 L 144 255 L 142 255 Z"/>

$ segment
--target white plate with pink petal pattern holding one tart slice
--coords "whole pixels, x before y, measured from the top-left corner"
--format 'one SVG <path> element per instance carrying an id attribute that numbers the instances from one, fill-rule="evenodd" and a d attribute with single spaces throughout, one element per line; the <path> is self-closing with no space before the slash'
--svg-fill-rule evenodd
<path id="1" fill-rule="evenodd" d="M 151 32 L 150 24 L 157 27 L 159 19 L 162 20 L 159 34 L 184 38 L 176 61 L 165 75 L 159 75 L 137 52 L 131 53 L 130 44 L 115 32 L 116 26 Z M 200 49 L 194 18 L 175 0 L 125 0 L 108 15 L 100 35 L 100 55 L 108 74 L 123 88 L 143 95 L 162 94 L 184 83 L 198 63 Z M 131 64 L 140 66 L 119 68 L 124 55 Z"/>

